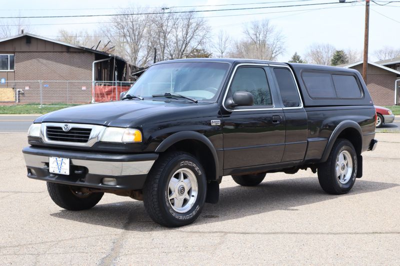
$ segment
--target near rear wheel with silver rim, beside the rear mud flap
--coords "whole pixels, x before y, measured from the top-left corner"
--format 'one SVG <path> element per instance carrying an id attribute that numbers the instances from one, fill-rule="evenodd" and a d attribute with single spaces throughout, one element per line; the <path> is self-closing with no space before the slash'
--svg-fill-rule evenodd
<path id="1" fill-rule="evenodd" d="M 340 195 L 351 190 L 357 176 L 357 155 L 346 139 L 337 139 L 326 162 L 318 166 L 318 181 L 329 194 Z"/>

